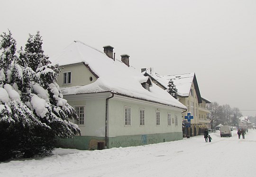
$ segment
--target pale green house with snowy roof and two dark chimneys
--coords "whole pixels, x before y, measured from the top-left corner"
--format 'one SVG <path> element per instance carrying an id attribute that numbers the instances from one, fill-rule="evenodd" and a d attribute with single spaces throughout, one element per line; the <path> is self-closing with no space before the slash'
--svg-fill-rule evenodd
<path id="1" fill-rule="evenodd" d="M 79 116 L 81 136 L 62 147 L 83 150 L 127 147 L 180 140 L 186 107 L 129 65 L 129 56 L 113 57 L 74 41 L 50 60 L 63 67 L 57 84 Z M 102 143 L 98 143 L 102 142 Z"/>

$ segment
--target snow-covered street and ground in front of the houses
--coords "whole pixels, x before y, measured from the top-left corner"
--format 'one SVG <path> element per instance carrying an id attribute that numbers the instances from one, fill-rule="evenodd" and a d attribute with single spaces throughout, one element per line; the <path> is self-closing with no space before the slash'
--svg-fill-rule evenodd
<path id="1" fill-rule="evenodd" d="M 56 149 L 54 155 L 0 163 L 0 177 L 254 177 L 256 130 L 246 139 L 202 135 L 102 151 Z"/>

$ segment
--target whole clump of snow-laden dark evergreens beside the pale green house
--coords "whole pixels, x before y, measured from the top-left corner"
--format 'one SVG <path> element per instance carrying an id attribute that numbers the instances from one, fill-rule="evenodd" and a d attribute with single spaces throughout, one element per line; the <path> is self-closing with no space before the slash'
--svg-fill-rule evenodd
<path id="1" fill-rule="evenodd" d="M 37 38 L 41 40 L 39 32 Z M 33 62 L 22 50 L 18 58 L 10 31 L 1 35 L 0 49 L 0 160 L 46 155 L 53 151 L 57 138 L 80 134 L 78 126 L 68 119 L 78 119 L 75 110 L 55 83 L 58 65 L 48 65 L 42 50 L 33 54 L 38 57 Z"/>

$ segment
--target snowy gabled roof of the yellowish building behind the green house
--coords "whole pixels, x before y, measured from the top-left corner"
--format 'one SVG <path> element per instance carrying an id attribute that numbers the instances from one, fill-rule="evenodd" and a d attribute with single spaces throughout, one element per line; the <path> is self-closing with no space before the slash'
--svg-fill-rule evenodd
<path id="1" fill-rule="evenodd" d="M 144 76 L 149 76 L 152 80 L 155 80 L 158 84 L 160 84 L 165 89 L 168 89 L 167 85 L 170 79 L 174 81 L 174 84 L 178 90 L 178 96 L 180 97 L 188 97 L 190 93 L 190 89 L 192 83 L 195 87 L 195 92 L 197 95 L 198 102 L 201 103 L 201 94 L 199 91 L 199 87 L 197 84 L 195 73 L 187 73 L 187 74 L 180 74 L 180 75 L 167 75 L 161 76 L 157 73 L 151 73 L 150 70 L 147 69 L 143 72 Z"/>

